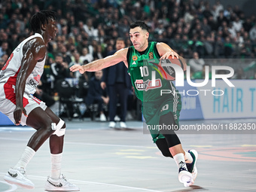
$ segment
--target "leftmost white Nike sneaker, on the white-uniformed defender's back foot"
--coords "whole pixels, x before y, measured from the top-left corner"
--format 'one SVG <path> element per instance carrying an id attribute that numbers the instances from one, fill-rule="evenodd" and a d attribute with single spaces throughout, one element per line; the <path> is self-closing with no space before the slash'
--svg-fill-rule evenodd
<path id="1" fill-rule="evenodd" d="M 35 184 L 26 178 L 26 169 L 23 167 L 18 167 L 17 169 L 9 169 L 8 173 L 6 173 L 4 176 L 4 179 L 10 184 L 17 184 L 20 187 L 26 189 L 35 188 Z"/>

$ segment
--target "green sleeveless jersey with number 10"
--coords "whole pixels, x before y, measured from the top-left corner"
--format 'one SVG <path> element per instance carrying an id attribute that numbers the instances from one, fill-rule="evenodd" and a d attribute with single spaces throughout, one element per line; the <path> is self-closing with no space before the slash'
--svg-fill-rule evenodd
<path id="1" fill-rule="evenodd" d="M 157 51 L 157 42 L 148 43 L 144 53 L 140 53 L 133 46 L 127 53 L 128 72 L 136 93 L 142 102 L 156 102 L 168 97 L 180 97 L 172 81 L 167 81 L 158 70 L 160 54 Z M 169 94 L 161 96 L 161 90 L 171 90 Z"/>

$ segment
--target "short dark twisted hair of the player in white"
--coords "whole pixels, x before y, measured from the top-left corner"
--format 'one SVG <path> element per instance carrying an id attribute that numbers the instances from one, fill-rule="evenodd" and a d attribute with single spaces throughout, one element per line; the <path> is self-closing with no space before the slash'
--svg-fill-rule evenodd
<path id="1" fill-rule="evenodd" d="M 56 20 L 56 12 L 50 10 L 42 10 L 34 14 L 29 23 L 30 31 L 39 32 L 41 30 L 41 24 L 48 23 L 49 19 Z"/>

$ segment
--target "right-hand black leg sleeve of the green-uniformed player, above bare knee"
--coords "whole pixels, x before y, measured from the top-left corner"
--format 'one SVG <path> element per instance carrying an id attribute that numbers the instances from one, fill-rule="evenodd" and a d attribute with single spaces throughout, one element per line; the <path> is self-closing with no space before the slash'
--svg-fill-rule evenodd
<path id="1" fill-rule="evenodd" d="M 176 125 L 174 117 L 171 112 L 168 114 L 164 114 L 160 117 L 160 125 Z M 172 126 L 173 127 L 173 126 Z M 166 142 L 169 148 L 172 148 L 175 145 L 181 144 L 178 136 L 174 132 L 174 130 L 160 130 L 160 133 L 166 138 Z"/>

